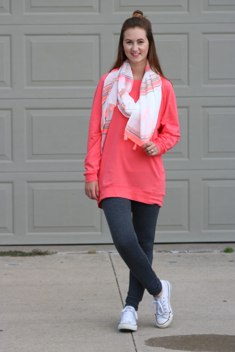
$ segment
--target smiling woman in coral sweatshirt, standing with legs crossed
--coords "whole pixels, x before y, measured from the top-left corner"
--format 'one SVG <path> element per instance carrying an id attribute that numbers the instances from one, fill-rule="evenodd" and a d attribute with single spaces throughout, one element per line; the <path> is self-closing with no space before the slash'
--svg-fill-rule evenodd
<path id="1" fill-rule="evenodd" d="M 122 26 L 117 60 L 95 92 L 84 174 L 85 193 L 103 208 L 113 243 L 130 269 L 120 330 L 137 330 L 144 289 L 154 297 L 157 327 L 167 327 L 173 317 L 171 284 L 151 264 L 165 196 L 161 154 L 179 138 L 175 95 L 163 76 L 151 23 L 135 11 Z"/>

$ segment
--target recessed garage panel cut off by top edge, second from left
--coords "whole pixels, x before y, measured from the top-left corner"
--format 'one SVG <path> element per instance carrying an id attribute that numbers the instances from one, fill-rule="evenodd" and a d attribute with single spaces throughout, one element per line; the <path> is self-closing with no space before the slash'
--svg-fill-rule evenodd
<path id="1" fill-rule="evenodd" d="M 26 12 L 99 12 L 99 0 L 25 0 Z"/>

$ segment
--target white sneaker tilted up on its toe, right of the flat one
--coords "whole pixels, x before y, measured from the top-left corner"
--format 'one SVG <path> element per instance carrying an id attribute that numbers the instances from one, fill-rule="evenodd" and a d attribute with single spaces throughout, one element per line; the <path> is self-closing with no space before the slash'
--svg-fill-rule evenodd
<path id="1" fill-rule="evenodd" d="M 162 295 L 155 297 L 152 302 L 156 304 L 156 324 L 159 328 L 166 328 L 172 321 L 173 312 L 170 304 L 171 284 L 166 280 L 161 280 Z"/>

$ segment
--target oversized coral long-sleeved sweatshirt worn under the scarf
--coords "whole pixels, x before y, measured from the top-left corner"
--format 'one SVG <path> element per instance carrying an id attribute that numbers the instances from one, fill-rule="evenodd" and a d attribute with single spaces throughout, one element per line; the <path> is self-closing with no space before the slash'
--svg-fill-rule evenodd
<path id="1" fill-rule="evenodd" d="M 128 122 L 116 106 L 101 154 L 101 113 L 102 90 L 108 74 L 101 77 L 95 91 L 89 123 L 87 156 L 85 159 L 85 182 L 99 182 L 98 207 L 107 197 L 122 197 L 160 207 L 165 196 L 165 170 L 161 155 L 180 139 L 179 121 L 174 90 L 171 82 L 162 80 L 162 100 L 157 124 L 151 137 L 158 150 L 156 156 L 147 155 L 142 147 L 124 140 L 124 130 Z M 136 102 L 140 97 L 142 80 L 134 80 L 129 95 Z"/>

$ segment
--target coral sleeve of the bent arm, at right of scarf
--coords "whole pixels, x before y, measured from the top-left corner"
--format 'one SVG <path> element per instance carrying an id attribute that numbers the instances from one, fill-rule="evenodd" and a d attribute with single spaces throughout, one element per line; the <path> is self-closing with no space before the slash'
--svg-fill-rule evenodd
<path id="1" fill-rule="evenodd" d="M 159 155 L 165 154 L 167 150 L 172 149 L 180 139 L 179 120 L 177 113 L 177 105 L 174 90 L 171 82 L 165 80 L 166 86 L 162 92 L 162 116 L 160 128 L 158 128 L 158 136 L 153 138 L 156 144 Z M 153 136 L 154 137 L 154 136 Z"/>

